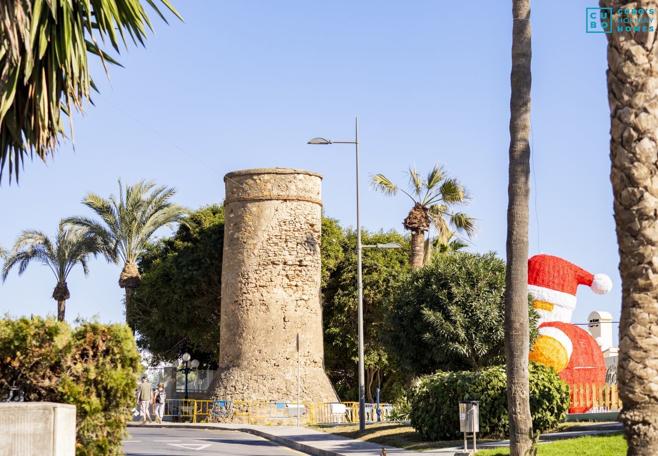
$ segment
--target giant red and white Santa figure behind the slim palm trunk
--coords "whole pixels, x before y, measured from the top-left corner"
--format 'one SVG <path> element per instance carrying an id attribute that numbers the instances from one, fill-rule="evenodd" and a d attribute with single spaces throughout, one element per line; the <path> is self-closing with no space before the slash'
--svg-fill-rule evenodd
<path id="1" fill-rule="evenodd" d="M 603 295 L 612 282 L 605 274 L 592 274 L 575 264 L 550 255 L 528 260 L 528 292 L 540 314 L 539 337 L 530 359 L 555 369 L 567 384 L 601 384 L 605 381 L 605 361 L 601 347 L 592 335 L 570 324 L 576 308 L 578 285 Z M 588 407 L 571 407 L 569 413 L 584 413 Z"/>

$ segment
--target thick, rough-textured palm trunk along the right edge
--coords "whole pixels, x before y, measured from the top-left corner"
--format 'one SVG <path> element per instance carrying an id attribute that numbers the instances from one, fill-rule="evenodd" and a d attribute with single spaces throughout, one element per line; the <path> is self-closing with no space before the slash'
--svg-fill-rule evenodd
<path id="1" fill-rule="evenodd" d="M 601 0 L 601 7 L 658 11 L 656 2 Z M 607 83 L 622 281 L 620 419 L 628 455 L 648 456 L 658 455 L 658 40 L 655 32 L 619 32 L 618 17 L 607 34 Z"/>

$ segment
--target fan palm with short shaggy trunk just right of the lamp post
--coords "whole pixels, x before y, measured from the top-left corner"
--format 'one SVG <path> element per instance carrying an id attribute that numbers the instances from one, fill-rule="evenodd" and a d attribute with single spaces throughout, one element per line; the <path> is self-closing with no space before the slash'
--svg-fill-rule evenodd
<path id="1" fill-rule="evenodd" d="M 405 192 L 386 176 L 376 174 L 370 179 L 372 188 L 387 196 L 397 195 L 397 191 L 409 196 L 414 203 L 402 225 L 411 231 L 411 269 L 422 268 L 426 258 L 425 232 L 434 228 L 439 233 L 439 243 L 455 233 L 467 235 L 470 239 L 476 233 L 475 219 L 463 212 L 451 212 L 453 206 L 468 202 L 467 189 L 453 177 L 449 177 L 443 166 L 434 165 L 426 179 L 422 179 L 415 168 L 410 167 L 409 192 Z"/>

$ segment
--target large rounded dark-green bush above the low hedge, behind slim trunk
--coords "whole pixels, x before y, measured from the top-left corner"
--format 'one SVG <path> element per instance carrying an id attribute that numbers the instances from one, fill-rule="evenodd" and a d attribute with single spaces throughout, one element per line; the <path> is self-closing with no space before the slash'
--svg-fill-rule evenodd
<path id="1" fill-rule="evenodd" d="M 407 275 L 390 297 L 384 341 L 407 376 L 505 362 L 505 263 L 454 252 Z M 528 297 L 530 327 L 537 314 Z M 534 341 L 536 329 L 530 339 Z"/>

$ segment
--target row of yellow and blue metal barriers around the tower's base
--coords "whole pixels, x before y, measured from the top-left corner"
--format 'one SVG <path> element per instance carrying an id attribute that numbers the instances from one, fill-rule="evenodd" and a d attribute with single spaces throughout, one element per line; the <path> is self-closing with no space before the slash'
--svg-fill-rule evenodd
<path id="1" fill-rule="evenodd" d="M 388 421 L 393 405 L 380 403 L 380 419 Z M 367 421 L 377 420 L 377 405 L 366 404 Z M 149 407 L 151 416 L 154 405 Z M 281 420 L 297 422 L 297 403 L 290 401 L 201 401 L 197 399 L 166 399 L 163 419 L 174 422 L 200 422 L 209 416 L 243 416 L 247 422 L 259 420 Z M 352 423 L 359 421 L 359 403 L 300 403 L 299 424 Z"/>

